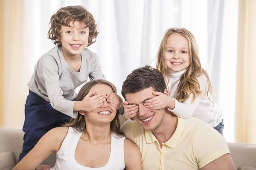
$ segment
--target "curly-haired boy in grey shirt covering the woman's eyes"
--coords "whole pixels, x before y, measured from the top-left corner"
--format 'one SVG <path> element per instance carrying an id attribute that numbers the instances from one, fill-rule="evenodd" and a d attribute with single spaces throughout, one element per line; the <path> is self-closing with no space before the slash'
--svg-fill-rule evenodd
<path id="1" fill-rule="evenodd" d="M 94 111 L 107 100 L 116 109 L 122 99 L 116 95 L 89 93 L 76 99 L 76 88 L 87 81 L 105 79 L 98 56 L 86 47 L 96 42 L 97 25 L 82 6 L 66 6 L 52 15 L 48 38 L 56 45 L 36 63 L 29 81 L 23 125 L 24 143 L 19 161 L 39 139 L 54 127 L 76 118 L 78 111 Z"/>

